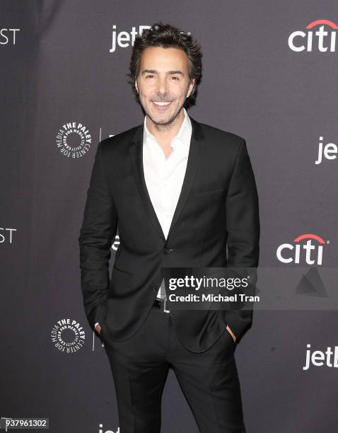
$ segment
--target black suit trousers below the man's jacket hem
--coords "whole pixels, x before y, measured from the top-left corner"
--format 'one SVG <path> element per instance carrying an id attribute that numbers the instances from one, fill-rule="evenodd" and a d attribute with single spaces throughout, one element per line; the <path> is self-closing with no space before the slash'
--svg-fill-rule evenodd
<path id="1" fill-rule="evenodd" d="M 161 431 L 161 396 L 170 366 L 199 432 L 245 433 L 235 342 L 227 330 L 209 350 L 190 352 L 177 340 L 170 313 L 153 307 L 128 340 L 112 342 L 105 325 L 100 336 L 112 369 L 122 433 Z M 174 425 L 175 417 L 173 432 Z"/>

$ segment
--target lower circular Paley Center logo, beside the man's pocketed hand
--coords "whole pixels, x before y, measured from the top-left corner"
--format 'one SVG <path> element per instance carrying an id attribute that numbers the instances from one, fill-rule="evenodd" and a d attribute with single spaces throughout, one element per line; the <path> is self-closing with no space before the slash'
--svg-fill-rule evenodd
<path id="1" fill-rule="evenodd" d="M 70 318 L 62 318 L 54 323 L 51 337 L 54 347 L 60 352 L 66 353 L 78 352 L 86 340 L 83 326 Z"/>

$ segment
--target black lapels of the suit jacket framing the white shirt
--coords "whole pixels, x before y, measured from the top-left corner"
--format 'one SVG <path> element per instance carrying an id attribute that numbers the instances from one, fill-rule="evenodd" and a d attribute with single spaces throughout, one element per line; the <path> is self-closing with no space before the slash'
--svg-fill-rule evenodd
<path id="1" fill-rule="evenodd" d="M 192 187 L 192 183 L 194 182 L 194 177 L 197 173 L 197 168 L 199 166 L 199 161 L 202 155 L 202 142 L 204 139 L 202 128 L 199 125 L 199 122 L 194 120 L 192 117 L 190 117 L 190 121 L 192 122 L 192 137 L 190 141 L 190 149 L 187 160 L 187 169 L 185 171 L 185 178 L 183 180 L 180 197 L 178 199 L 175 213 L 173 215 L 173 221 L 171 221 L 167 241 L 170 237 L 170 234 L 173 232 L 173 228 L 177 223 L 177 220 L 180 217 L 182 209 L 185 205 L 190 189 Z M 139 127 L 136 127 L 136 131 L 134 132 L 134 136 L 132 138 L 132 144 L 129 147 L 129 157 L 132 161 L 133 175 L 136 185 L 139 189 L 141 201 L 144 203 L 144 207 L 151 221 L 151 224 L 153 224 L 154 229 L 158 232 L 158 235 L 161 236 L 162 240 L 165 241 L 165 236 L 160 221 L 158 221 L 155 209 L 153 209 L 153 204 L 151 203 L 151 198 L 148 194 L 148 190 L 146 187 L 146 180 L 144 178 L 143 129 L 143 124 L 139 125 Z"/>

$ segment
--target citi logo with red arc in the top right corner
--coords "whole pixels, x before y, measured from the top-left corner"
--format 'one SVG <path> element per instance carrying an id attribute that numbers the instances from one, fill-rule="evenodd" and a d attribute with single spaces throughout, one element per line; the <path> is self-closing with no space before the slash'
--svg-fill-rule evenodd
<path id="1" fill-rule="evenodd" d="M 330 20 L 316 20 L 303 30 L 296 30 L 289 36 L 289 47 L 292 51 L 335 52 L 338 25 Z"/>

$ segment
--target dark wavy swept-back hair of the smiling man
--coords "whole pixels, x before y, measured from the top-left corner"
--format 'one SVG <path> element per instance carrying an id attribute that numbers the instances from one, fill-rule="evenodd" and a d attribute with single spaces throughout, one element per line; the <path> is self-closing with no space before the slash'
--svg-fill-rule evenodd
<path id="1" fill-rule="evenodd" d="M 194 105 L 197 96 L 197 86 L 202 79 L 202 52 L 201 47 L 194 40 L 191 33 L 182 32 L 180 29 L 173 27 L 170 24 L 160 22 L 151 25 L 151 28 L 144 30 L 141 35 L 135 37 L 134 47 L 132 50 L 132 58 L 130 60 L 129 83 L 132 85 L 132 90 L 139 103 L 139 93 L 136 91 L 135 81 L 139 75 L 139 67 L 141 54 L 148 47 L 174 47 L 180 48 L 187 54 L 188 74 L 189 79 L 195 79 L 192 93 L 185 100 L 185 106 Z"/>

